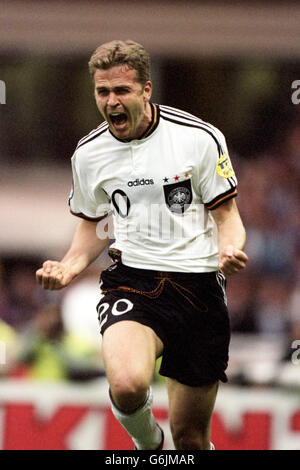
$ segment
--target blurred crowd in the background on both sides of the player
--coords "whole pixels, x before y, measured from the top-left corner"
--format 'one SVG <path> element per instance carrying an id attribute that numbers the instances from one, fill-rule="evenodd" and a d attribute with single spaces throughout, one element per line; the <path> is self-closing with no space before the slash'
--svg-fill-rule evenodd
<path id="1" fill-rule="evenodd" d="M 228 279 L 232 331 L 284 339 L 282 360 L 289 360 L 292 341 L 300 340 L 300 121 L 262 154 L 233 153 L 232 160 L 249 256 L 247 269 Z M 51 381 L 103 376 L 95 309 L 103 263 L 64 291 L 47 292 L 35 282 L 38 263 L 2 261 L 0 340 L 6 357 L 0 376 Z"/>

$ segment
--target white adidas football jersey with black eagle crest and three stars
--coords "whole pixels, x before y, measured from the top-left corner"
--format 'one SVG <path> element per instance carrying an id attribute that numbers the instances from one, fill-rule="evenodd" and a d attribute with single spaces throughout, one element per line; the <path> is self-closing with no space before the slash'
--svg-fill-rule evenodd
<path id="1" fill-rule="evenodd" d="M 210 211 L 237 195 L 225 138 L 189 113 L 151 108 L 152 121 L 138 140 L 117 139 L 104 122 L 79 141 L 71 212 L 97 221 L 112 211 L 111 248 L 127 266 L 215 271 L 217 228 Z"/>

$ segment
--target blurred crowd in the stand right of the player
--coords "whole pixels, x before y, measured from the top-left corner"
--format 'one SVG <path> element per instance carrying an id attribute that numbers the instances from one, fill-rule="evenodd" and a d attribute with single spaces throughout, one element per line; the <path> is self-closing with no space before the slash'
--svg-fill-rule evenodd
<path id="1" fill-rule="evenodd" d="M 300 338 L 300 122 L 262 154 L 236 159 L 247 269 L 228 282 L 234 332 Z M 233 158 L 235 160 L 235 158 Z"/>

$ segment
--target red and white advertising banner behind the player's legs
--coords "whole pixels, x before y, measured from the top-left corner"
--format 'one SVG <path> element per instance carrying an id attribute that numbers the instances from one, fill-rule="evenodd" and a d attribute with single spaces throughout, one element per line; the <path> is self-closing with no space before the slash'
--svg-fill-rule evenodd
<path id="1" fill-rule="evenodd" d="M 11 394 L 4 391 L 11 390 Z M 0 448 L 3 450 L 127 450 L 133 443 L 111 413 L 107 390 L 45 387 L 22 382 L 0 385 Z M 166 394 L 154 390 L 154 414 L 174 449 Z M 2 393 L 3 392 L 3 393 Z M 31 397 L 30 397 L 31 395 Z M 219 394 L 212 420 L 218 450 L 300 449 L 298 396 L 245 389 Z M 26 396 L 26 398 L 24 398 Z M 68 398 L 67 398 L 68 397 Z"/>

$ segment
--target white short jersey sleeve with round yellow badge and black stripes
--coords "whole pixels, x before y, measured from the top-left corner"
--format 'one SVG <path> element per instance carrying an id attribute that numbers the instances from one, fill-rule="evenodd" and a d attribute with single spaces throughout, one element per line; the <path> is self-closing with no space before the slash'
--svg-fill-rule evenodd
<path id="1" fill-rule="evenodd" d="M 225 201 L 237 196 L 237 179 L 230 161 L 223 134 L 214 129 L 208 136 L 201 156 L 200 194 L 205 207 L 216 209 Z"/>

